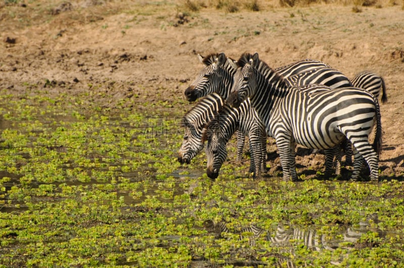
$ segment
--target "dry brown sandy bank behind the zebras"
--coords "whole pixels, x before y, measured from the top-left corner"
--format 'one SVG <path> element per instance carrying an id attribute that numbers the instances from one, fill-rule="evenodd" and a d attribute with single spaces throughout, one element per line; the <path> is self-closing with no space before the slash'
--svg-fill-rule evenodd
<path id="1" fill-rule="evenodd" d="M 402 5 L 362 7 L 360 13 L 331 4 L 237 13 L 201 9 L 181 16 L 185 10 L 172 1 L 63 3 L 0 4 L 1 89 L 16 96 L 88 91 L 92 97 L 85 101 L 113 108 L 122 98 L 183 100 L 183 91 L 203 68 L 197 53 L 224 51 L 237 59 L 242 52 L 257 51 L 274 68 L 318 59 L 349 78 L 367 70 L 385 79 L 380 169 L 383 176 L 403 177 Z M 317 158 L 298 157 L 297 162 L 320 165 Z"/>

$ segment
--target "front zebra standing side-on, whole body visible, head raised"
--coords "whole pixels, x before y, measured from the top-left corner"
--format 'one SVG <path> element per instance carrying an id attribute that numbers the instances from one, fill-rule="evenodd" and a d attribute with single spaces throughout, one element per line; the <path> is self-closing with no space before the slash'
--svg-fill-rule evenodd
<path id="1" fill-rule="evenodd" d="M 258 53 L 243 53 L 237 66 L 228 102 L 237 107 L 250 98 L 268 133 L 276 139 L 283 180 L 297 180 L 295 143 L 328 149 L 338 145 L 344 136 L 354 146 L 356 162 L 351 179 L 358 179 L 361 160 L 365 158 L 371 180 L 378 180 L 382 128 L 379 102 L 372 93 L 355 87 L 331 90 L 324 85 L 317 85 L 314 93 L 301 91 L 260 61 Z M 372 146 L 368 137 L 375 123 Z"/>

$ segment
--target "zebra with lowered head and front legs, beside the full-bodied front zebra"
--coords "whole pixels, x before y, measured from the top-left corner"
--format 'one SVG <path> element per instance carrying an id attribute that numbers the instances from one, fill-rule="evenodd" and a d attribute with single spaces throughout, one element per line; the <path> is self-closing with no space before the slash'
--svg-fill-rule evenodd
<path id="1" fill-rule="evenodd" d="M 227 158 L 226 144 L 237 130 L 237 133 L 247 135 L 250 140 L 249 172 L 254 173 L 256 178 L 266 172 L 267 132 L 257 112 L 251 107 L 249 99 L 246 99 L 238 109 L 223 105 L 216 120 L 213 119 L 204 128 L 202 142 L 208 141 L 205 151 L 209 178 L 218 177 L 219 170 Z"/>

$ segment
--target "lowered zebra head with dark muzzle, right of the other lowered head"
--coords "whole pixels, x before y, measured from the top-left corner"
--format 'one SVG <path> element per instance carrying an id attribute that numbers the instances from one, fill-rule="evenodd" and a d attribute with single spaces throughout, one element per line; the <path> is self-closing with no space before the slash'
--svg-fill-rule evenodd
<path id="1" fill-rule="evenodd" d="M 219 118 L 219 117 L 218 117 Z M 202 142 L 206 144 L 207 169 L 206 174 L 211 179 L 219 176 L 219 170 L 227 158 L 226 142 L 222 138 L 222 128 L 218 122 L 209 122 L 203 131 Z"/>

